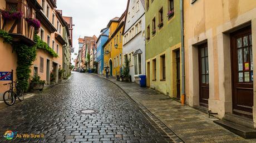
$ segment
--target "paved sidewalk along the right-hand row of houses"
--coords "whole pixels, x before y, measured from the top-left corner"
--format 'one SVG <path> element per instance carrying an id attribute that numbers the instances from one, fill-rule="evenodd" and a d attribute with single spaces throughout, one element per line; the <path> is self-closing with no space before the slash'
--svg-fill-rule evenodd
<path id="1" fill-rule="evenodd" d="M 190 106 L 181 106 L 177 101 L 155 90 L 141 88 L 136 83 L 120 82 L 114 78 L 107 80 L 143 105 L 185 142 L 256 142 L 256 139 L 245 140 L 233 134 L 213 122 L 218 119 L 209 118 L 207 114 Z"/>

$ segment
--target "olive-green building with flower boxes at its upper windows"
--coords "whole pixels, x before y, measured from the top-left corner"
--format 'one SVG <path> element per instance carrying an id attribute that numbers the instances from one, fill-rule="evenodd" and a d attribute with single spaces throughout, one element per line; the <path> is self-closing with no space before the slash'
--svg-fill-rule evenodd
<path id="1" fill-rule="evenodd" d="M 180 99 L 180 2 L 146 0 L 145 5 L 147 86 Z"/>

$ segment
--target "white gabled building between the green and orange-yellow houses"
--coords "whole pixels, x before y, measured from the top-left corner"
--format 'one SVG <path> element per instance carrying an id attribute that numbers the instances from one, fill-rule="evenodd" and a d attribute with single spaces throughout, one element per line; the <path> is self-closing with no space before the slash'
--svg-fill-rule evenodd
<path id="1" fill-rule="evenodd" d="M 145 75 L 145 0 L 128 0 L 126 11 L 122 54 L 130 60 L 131 79 L 136 81 Z"/>

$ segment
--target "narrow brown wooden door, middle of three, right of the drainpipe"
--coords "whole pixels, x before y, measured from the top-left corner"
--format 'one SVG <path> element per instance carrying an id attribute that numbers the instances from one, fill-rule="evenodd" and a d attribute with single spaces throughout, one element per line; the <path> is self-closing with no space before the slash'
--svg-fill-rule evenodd
<path id="1" fill-rule="evenodd" d="M 208 107 L 209 99 L 209 64 L 207 43 L 198 47 L 199 59 L 199 103 L 200 106 Z"/>

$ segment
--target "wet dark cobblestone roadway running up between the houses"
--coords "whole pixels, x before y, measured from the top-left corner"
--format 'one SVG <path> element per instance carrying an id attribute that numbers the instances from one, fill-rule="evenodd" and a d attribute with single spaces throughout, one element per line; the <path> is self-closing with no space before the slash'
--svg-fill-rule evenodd
<path id="1" fill-rule="evenodd" d="M 81 115 L 82 109 L 99 113 Z M 152 118 L 152 117 L 151 117 Z M 0 111 L 0 142 L 7 130 L 44 134 L 11 142 L 177 142 L 115 84 L 72 73 L 65 83 Z"/>

